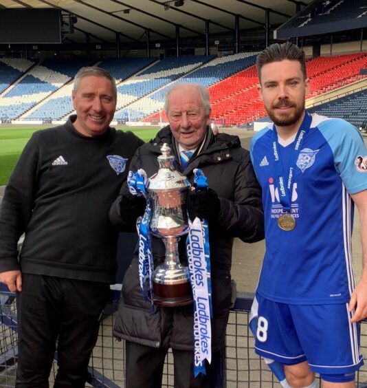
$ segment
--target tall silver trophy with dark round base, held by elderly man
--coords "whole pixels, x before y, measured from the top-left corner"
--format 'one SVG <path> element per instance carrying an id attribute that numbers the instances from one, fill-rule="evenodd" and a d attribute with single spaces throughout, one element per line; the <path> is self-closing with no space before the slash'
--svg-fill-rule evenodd
<path id="1" fill-rule="evenodd" d="M 188 267 L 179 261 L 178 242 L 188 233 L 186 200 L 190 182 L 175 170 L 175 157 L 168 144 L 158 156 L 159 170 L 148 180 L 147 195 L 151 204 L 151 233 L 164 241 L 165 262 L 153 273 L 155 305 L 179 306 L 192 303 Z"/>

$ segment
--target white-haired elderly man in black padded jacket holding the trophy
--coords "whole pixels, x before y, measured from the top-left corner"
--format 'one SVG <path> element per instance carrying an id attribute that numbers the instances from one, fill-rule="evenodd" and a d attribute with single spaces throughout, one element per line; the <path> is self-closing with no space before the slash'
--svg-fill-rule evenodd
<path id="1" fill-rule="evenodd" d="M 157 156 L 162 144 L 173 150 L 179 169 L 193 181 L 193 170 L 202 169 L 209 189 L 190 193 L 190 219 L 208 220 L 212 283 L 212 352 L 225 345 L 225 328 L 231 305 L 231 263 L 234 237 L 245 242 L 263 239 L 261 191 L 249 152 L 241 148 L 237 136 L 210 130 L 208 90 L 201 85 L 178 84 L 166 96 L 170 125 L 135 153 L 130 169 L 144 169 L 148 177 L 157 172 Z M 185 166 L 181 151 L 192 151 Z M 181 162 L 180 162 L 181 161 Z M 124 184 L 110 211 L 111 221 L 129 230 L 142 215 L 145 200 L 133 197 Z M 165 259 L 162 239 L 152 236 L 156 267 Z M 187 263 L 185 239 L 179 241 L 181 263 Z M 152 310 L 140 292 L 137 252 L 127 270 L 116 316 L 114 335 L 126 340 L 126 387 L 161 387 L 164 359 L 173 349 L 175 387 L 209 387 L 211 371 L 194 377 L 194 334 L 192 305 L 157 307 Z"/>

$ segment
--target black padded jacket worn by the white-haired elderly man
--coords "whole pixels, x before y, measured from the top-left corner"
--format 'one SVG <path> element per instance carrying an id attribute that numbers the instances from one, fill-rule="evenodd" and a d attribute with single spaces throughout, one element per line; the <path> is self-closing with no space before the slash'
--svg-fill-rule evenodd
<path id="1" fill-rule="evenodd" d="M 209 129 L 208 129 L 209 131 Z M 211 133 L 211 132 L 210 132 Z M 200 168 L 208 177 L 208 185 L 219 195 L 221 211 L 214 224 L 210 224 L 210 255 L 212 279 L 212 350 L 224 346 L 225 327 L 231 304 L 231 263 L 234 237 L 245 242 L 263 239 L 263 208 L 261 190 L 249 158 L 249 152 L 241 148 L 237 136 L 220 133 L 211 140 L 198 155 L 194 155 L 183 173 L 192 182 L 195 168 Z M 168 143 L 176 153 L 177 146 L 169 127 L 157 134 L 155 140 L 144 144 L 135 153 L 131 169 L 144 169 L 149 176 L 157 172 L 157 156 L 160 147 Z M 119 217 L 120 201 L 126 186 L 113 203 L 110 218 L 113 224 L 123 230 L 129 226 Z M 188 204 L 190 215 L 190 206 Z M 187 263 L 185 238 L 179 241 L 179 255 L 182 263 Z M 164 261 L 165 248 L 161 239 L 152 237 L 154 265 Z M 244 259 L 246 257 L 243 252 Z M 128 268 L 122 284 L 122 296 L 116 316 L 114 335 L 128 341 L 151 347 L 172 347 L 192 350 L 192 305 L 177 308 L 159 308 L 154 311 L 151 303 L 142 300 L 140 292 L 137 252 Z"/>

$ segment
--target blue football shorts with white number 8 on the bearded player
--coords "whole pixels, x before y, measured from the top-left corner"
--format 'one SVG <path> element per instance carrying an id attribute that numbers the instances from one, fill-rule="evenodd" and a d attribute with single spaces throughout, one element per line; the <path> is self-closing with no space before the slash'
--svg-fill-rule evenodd
<path id="1" fill-rule="evenodd" d="M 256 294 L 256 354 L 287 365 L 307 360 L 318 374 L 351 374 L 363 365 L 352 316 L 348 303 L 288 305 Z"/>

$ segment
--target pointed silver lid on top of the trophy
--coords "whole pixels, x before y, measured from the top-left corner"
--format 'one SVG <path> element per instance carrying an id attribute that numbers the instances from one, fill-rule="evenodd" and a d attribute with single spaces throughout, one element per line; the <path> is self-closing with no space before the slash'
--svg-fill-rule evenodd
<path id="1" fill-rule="evenodd" d="M 189 188 L 185 175 L 175 169 L 175 156 L 171 155 L 171 149 L 167 143 L 161 147 L 162 155 L 157 157 L 159 170 L 148 180 L 148 190 L 172 190 Z"/>

